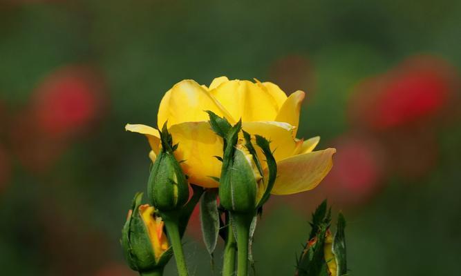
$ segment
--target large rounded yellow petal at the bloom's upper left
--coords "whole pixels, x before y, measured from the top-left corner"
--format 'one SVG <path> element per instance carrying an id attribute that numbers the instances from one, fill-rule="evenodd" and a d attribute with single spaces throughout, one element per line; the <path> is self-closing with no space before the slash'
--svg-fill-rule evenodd
<path id="1" fill-rule="evenodd" d="M 186 121 L 207 121 L 205 110 L 211 110 L 220 117 L 226 117 L 232 124 L 235 123 L 229 112 L 211 96 L 206 88 L 196 81 L 184 80 L 176 83 L 171 90 L 165 93 L 158 108 L 158 126 L 168 121 L 168 126 Z"/>

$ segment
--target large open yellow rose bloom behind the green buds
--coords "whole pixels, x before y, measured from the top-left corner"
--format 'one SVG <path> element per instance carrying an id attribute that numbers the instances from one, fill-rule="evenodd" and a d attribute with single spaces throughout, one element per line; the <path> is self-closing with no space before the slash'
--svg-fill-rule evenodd
<path id="1" fill-rule="evenodd" d="M 214 79 L 209 87 L 193 80 L 176 83 L 163 97 L 158 110 L 158 126 L 167 122 L 178 144 L 175 156 L 189 182 L 205 188 L 216 188 L 223 156 L 223 139 L 211 130 L 208 114 L 211 110 L 225 117 L 231 124 L 241 119 L 243 130 L 268 139 L 277 161 L 277 178 L 272 194 L 288 195 L 317 186 L 332 167 L 334 148 L 312 151 L 319 137 L 297 139 L 299 112 L 305 93 L 297 91 L 287 97 L 274 83 L 256 81 L 229 81 L 227 77 Z M 149 157 L 156 159 L 160 148 L 158 130 L 144 125 L 126 125 L 126 130 L 139 132 L 149 139 Z M 265 160 L 262 152 L 258 152 Z M 265 163 L 263 162 L 263 166 Z M 267 168 L 265 173 L 267 173 Z"/>

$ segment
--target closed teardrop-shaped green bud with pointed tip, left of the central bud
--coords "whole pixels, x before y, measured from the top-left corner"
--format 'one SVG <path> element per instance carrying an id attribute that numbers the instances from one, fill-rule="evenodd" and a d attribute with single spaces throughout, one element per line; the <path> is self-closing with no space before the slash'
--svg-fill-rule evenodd
<path id="1" fill-rule="evenodd" d="M 153 163 L 149 176 L 149 200 L 158 210 L 177 210 L 189 199 L 189 184 L 173 155 L 178 145 L 173 146 L 166 123 L 160 132 L 160 139 L 162 149 Z"/>

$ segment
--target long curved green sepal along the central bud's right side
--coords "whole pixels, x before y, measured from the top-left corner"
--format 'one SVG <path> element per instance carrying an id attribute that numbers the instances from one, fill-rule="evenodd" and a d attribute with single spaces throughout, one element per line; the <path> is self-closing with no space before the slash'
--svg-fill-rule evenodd
<path id="1" fill-rule="evenodd" d="M 263 204 L 265 204 L 267 199 L 269 199 L 270 192 L 272 191 L 272 188 L 274 187 L 275 179 L 277 176 L 277 163 L 275 161 L 274 155 L 272 155 L 272 151 L 270 150 L 269 141 L 267 141 L 267 139 L 265 139 L 264 137 L 260 135 L 255 135 L 255 137 L 256 137 L 256 145 L 258 145 L 258 147 L 261 148 L 261 150 L 263 150 L 263 154 L 265 156 L 266 163 L 267 163 L 267 168 L 269 170 L 269 177 L 267 181 L 263 179 L 261 183 L 261 185 L 264 185 L 265 187 L 264 187 L 263 196 L 261 197 L 261 199 L 259 199 L 258 205 L 256 206 L 256 208 L 260 208 L 261 206 L 263 206 Z"/>

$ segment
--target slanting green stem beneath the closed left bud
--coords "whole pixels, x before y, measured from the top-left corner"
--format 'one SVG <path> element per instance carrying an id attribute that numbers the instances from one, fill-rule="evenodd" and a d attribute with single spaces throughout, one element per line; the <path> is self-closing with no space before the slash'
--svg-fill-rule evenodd
<path id="1" fill-rule="evenodd" d="M 179 233 L 179 214 L 177 212 L 162 213 L 162 219 L 167 228 L 169 242 L 173 247 L 174 258 L 176 259 L 176 267 L 178 268 L 179 276 L 187 276 L 187 266 L 182 251 L 181 237 Z"/>

